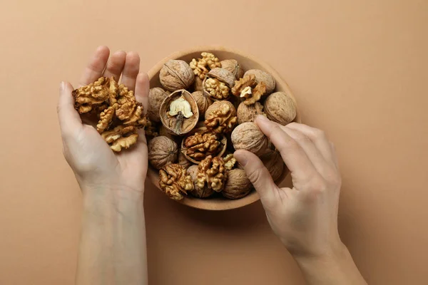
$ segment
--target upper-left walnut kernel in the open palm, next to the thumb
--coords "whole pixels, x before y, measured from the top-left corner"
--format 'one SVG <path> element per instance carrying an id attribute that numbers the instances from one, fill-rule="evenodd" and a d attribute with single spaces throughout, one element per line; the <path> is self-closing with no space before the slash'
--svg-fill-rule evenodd
<path id="1" fill-rule="evenodd" d="M 89 113 L 96 106 L 102 105 L 110 96 L 110 78 L 101 77 L 94 83 L 73 90 L 74 107 L 78 113 Z"/>

